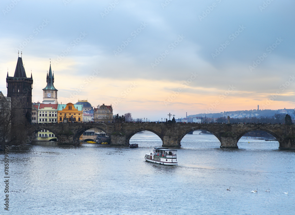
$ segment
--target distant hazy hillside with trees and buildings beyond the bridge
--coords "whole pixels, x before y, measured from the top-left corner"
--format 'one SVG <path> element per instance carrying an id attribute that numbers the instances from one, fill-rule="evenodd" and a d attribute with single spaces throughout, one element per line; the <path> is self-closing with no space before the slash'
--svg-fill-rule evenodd
<path id="1" fill-rule="evenodd" d="M 291 116 L 294 116 L 294 109 L 279 109 L 279 110 L 250 110 L 250 111 L 224 111 L 220 113 L 209 113 L 209 114 L 195 114 L 195 115 L 189 115 L 189 117 L 209 117 L 209 118 L 218 118 L 222 116 L 230 116 L 230 118 L 243 118 L 243 117 L 254 117 L 256 116 L 259 118 L 260 116 L 273 116 L 275 114 L 289 114 Z"/>

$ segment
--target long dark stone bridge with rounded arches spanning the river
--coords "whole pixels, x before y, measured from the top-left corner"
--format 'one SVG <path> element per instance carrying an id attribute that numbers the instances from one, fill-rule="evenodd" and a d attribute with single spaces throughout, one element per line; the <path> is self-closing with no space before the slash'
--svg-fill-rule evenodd
<path id="1" fill-rule="evenodd" d="M 220 141 L 220 148 L 238 148 L 237 142 L 249 131 L 266 131 L 279 142 L 279 149 L 295 149 L 295 125 L 285 124 L 190 124 L 190 123 L 55 123 L 34 124 L 28 134 L 46 129 L 55 134 L 58 144 L 79 144 L 84 131 L 97 128 L 111 138 L 111 145 L 127 146 L 130 138 L 139 131 L 151 131 L 158 135 L 165 147 L 181 146 L 181 139 L 191 131 L 206 130 Z M 293 132 L 294 130 L 294 132 Z"/>

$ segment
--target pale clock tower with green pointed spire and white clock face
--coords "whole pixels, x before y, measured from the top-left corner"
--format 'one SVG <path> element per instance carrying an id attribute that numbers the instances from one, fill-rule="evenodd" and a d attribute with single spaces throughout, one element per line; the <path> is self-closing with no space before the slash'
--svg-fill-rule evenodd
<path id="1" fill-rule="evenodd" d="M 43 88 L 43 104 L 57 104 L 57 89 L 55 89 L 54 82 L 54 74 L 51 72 L 51 63 L 49 67 L 49 73 L 47 73 L 46 77 L 47 85 Z"/>

